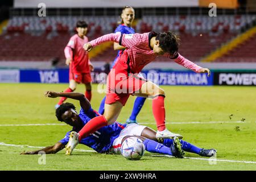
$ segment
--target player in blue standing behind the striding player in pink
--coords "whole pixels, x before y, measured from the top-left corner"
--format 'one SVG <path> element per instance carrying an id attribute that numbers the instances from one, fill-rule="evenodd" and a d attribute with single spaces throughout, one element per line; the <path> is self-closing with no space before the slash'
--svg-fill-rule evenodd
<path id="1" fill-rule="evenodd" d="M 131 6 L 125 6 L 122 9 L 121 14 L 121 22 L 119 23 L 119 26 L 115 28 L 116 34 L 135 34 L 135 31 L 133 27 L 131 27 L 131 24 L 133 24 L 135 11 L 133 7 Z M 118 57 L 122 55 L 123 50 L 125 47 L 120 46 L 118 43 L 114 42 L 114 50 L 118 50 L 117 56 L 115 57 L 113 64 L 111 65 L 111 68 L 114 67 L 115 63 L 118 60 Z M 139 76 L 143 77 L 141 74 Z M 98 112 L 100 114 L 104 114 L 104 105 L 105 105 L 106 97 L 103 98 L 101 101 L 100 109 L 98 109 Z M 137 97 L 134 101 L 133 111 L 131 112 L 130 117 L 127 119 L 126 123 L 137 123 L 137 115 L 139 114 L 139 111 L 141 111 L 142 106 L 145 102 L 145 97 Z"/>

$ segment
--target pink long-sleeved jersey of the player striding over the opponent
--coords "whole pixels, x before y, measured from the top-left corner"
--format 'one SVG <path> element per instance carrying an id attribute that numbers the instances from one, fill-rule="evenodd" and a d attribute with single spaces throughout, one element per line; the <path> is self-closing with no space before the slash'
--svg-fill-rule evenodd
<path id="1" fill-rule="evenodd" d="M 148 40 L 150 32 L 144 34 L 107 34 L 90 41 L 92 46 L 97 46 L 102 42 L 113 41 L 119 43 L 121 46 L 126 47 L 127 54 L 130 58 L 131 72 L 139 73 L 145 65 L 153 61 L 158 55 L 150 48 L 150 40 Z M 170 57 L 168 53 L 163 56 Z M 199 72 L 201 67 L 185 59 L 179 55 L 176 59 L 173 59 L 177 64 L 182 65 L 185 68 L 192 69 L 194 72 Z"/>

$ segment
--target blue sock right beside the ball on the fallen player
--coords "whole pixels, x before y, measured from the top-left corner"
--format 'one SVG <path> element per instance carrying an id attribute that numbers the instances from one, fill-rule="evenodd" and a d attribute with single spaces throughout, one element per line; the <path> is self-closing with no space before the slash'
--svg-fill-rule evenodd
<path id="1" fill-rule="evenodd" d="M 144 140 L 145 150 L 152 153 L 172 155 L 171 149 L 151 139 Z"/>

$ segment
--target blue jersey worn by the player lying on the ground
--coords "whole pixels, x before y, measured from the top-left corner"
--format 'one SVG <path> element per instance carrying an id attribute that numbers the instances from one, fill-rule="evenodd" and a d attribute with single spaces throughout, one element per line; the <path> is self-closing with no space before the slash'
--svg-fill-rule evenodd
<path id="1" fill-rule="evenodd" d="M 97 111 L 90 108 L 88 111 L 84 111 L 83 109 L 80 110 L 79 117 L 84 123 L 84 125 L 90 121 L 90 119 L 97 117 L 100 115 Z M 125 128 L 126 124 L 122 125 L 121 123 L 113 123 L 109 126 L 104 126 L 101 129 L 97 130 L 95 133 L 89 135 L 86 138 L 83 138 L 79 143 L 85 144 L 86 146 L 93 148 L 95 151 L 99 153 L 108 152 L 110 148 L 112 147 L 112 144 L 114 140 L 119 136 L 120 132 L 123 128 Z M 81 128 L 75 128 L 71 131 L 79 132 Z M 69 140 L 69 134 L 71 133 L 69 131 L 63 139 L 61 139 L 59 142 L 63 144 L 67 144 Z"/>

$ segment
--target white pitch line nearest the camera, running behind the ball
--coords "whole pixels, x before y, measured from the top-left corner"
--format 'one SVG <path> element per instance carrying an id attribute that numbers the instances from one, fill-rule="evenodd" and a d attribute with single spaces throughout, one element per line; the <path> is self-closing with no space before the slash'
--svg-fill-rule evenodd
<path id="1" fill-rule="evenodd" d="M 1 146 L 11 146 L 11 147 L 29 147 L 29 148 L 44 148 L 44 147 L 35 147 L 35 146 L 28 146 L 28 145 L 16 145 L 16 144 L 7 144 L 0 142 Z M 81 150 L 81 149 L 75 149 L 76 151 L 82 151 L 82 152 L 96 152 L 94 150 Z M 150 155 L 150 156 L 157 156 L 157 157 L 168 157 L 168 158 L 174 158 L 174 156 L 171 155 Z M 211 159 L 211 158 L 190 158 L 190 157 L 184 157 L 184 159 L 195 159 L 195 160 L 211 160 L 211 161 L 218 161 L 218 162 L 232 162 L 232 163 L 251 163 L 256 164 L 254 161 L 244 161 L 244 160 L 224 160 L 224 159 Z"/>

